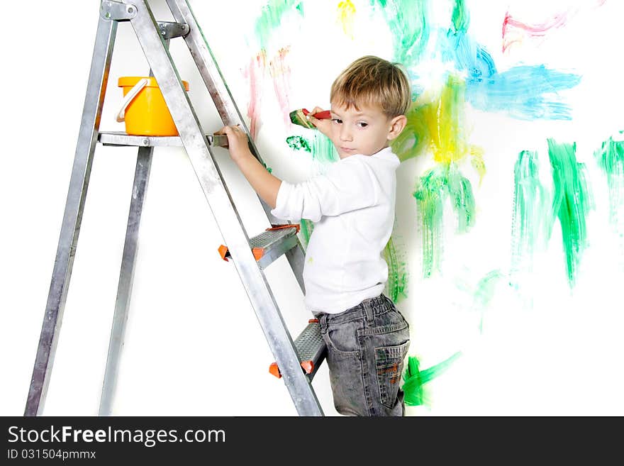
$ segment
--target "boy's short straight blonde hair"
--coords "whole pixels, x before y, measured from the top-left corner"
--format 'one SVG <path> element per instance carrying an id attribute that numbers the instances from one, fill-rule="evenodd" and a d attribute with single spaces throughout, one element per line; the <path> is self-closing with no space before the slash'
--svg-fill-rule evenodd
<path id="1" fill-rule="evenodd" d="M 404 115 L 411 103 L 411 87 L 399 66 L 373 55 L 358 58 L 333 82 L 330 101 L 347 109 L 377 106 L 390 118 Z"/>

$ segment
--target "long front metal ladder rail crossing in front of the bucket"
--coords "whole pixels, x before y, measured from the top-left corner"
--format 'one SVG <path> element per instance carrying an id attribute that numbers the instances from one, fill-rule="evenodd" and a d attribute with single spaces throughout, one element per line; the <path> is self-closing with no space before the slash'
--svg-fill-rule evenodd
<path id="1" fill-rule="evenodd" d="M 284 382 L 301 416 L 323 416 L 311 383 L 301 370 L 294 342 L 267 283 L 249 247 L 238 211 L 223 182 L 199 119 L 182 86 L 182 79 L 157 33 L 156 21 L 146 0 L 133 0 L 137 13 L 130 18 L 147 62 L 177 126 L 218 228 L 235 257 L 235 267 L 247 292 L 269 347 L 277 359 Z M 186 21 L 182 21 L 186 23 Z M 188 23 L 187 23 L 188 24 Z M 189 24 L 193 28 L 192 24 Z"/>

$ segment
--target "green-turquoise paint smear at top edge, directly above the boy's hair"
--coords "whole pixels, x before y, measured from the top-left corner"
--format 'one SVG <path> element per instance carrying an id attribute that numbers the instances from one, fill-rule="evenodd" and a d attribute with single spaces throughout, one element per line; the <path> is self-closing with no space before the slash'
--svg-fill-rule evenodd
<path id="1" fill-rule="evenodd" d="M 428 0 L 370 0 L 380 6 L 394 34 L 394 60 L 406 67 L 417 65 L 429 41 Z"/>

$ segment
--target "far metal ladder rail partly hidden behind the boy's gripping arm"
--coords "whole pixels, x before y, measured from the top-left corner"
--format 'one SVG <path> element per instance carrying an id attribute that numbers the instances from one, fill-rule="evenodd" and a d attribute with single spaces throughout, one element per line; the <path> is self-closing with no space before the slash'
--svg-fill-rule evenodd
<path id="1" fill-rule="evenodd" d="M 166 0 L 167 5 L 169 5 L 169 9 L 172 11 L 173 16 L 176 21 L 179 23 L 186 23 L 189 25 L 189 33 L 184 35 L 184 41 L 188 46 L 191 56 L 195 60 L 197 65 L 197 69 L 199 70 L 202 79 L 204 79 L 204 84 L 206 84 L 206 88 L 210 93 L 216 109 L 221 116 L 221 120 L 225 126 L 230 125 L 240 125 L 241 128 L 245 130 L 245 133 L 249 135 L 249 130 L 247 129 L 247 125 L 243 120 L 243 117 L 238 110 L 238 106 L 236 105 L 232 93 L 228 88 L 228 85 L 225 83 L 225 79 L 223 78 L 223 74 L 218 67 L 216 59 L 213 55 L 213 52 L 208 45 L 208 41 L 204 37 L 204 34 L 201 32 L 201 28 L 196 21 L 193 11 L 191 10 L 191 6 L 187 0 Z M 210 60 L 208 60 L 210 57 Z M 259 160 L 263 165 L 264 161 L 260 156 L 260 152 L 257 150 L 257 147 L 253 141 L 253 139 L 249 138 L 249 146 L 252 154 Z M 260 200 L 260 204 L 262 204 L 262 209 L 264 209 L 264 213 L 267 214 L 267 218 L 269 222 L 272 224 L 282 223 L 282 221 L 278 220 L 272 213 L 271 208 L 264 202 L 264 200 L 258 196 Z M 286 253 L 286 259 L 289 262 L 289 265 L 295 275 L 297 282 L 299 283 L 299 287 L 301 288 L 301 292 L 305 294 L 306 289 L 303 284 L 303 264 L 305 260 L 305 250 L 303 245 L 301 245 L 301 241 L 297 238 L 297 245 Z"/>

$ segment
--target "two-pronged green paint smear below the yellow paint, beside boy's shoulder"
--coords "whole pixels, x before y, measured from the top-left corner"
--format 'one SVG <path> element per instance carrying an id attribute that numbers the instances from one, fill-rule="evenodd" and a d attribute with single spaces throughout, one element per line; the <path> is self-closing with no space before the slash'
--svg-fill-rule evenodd
<path id="1" fill-rule="evenodd" d="M 420 177 L 413 196 L 423 231 L 423 277 L 440 272 L 442 257 L 442 213 L 447 198 L 457 214 L 457 232 L 465 233 L 474 225 L 474 196 L 467 178 L 457 165 L 438 165 Z"/>

